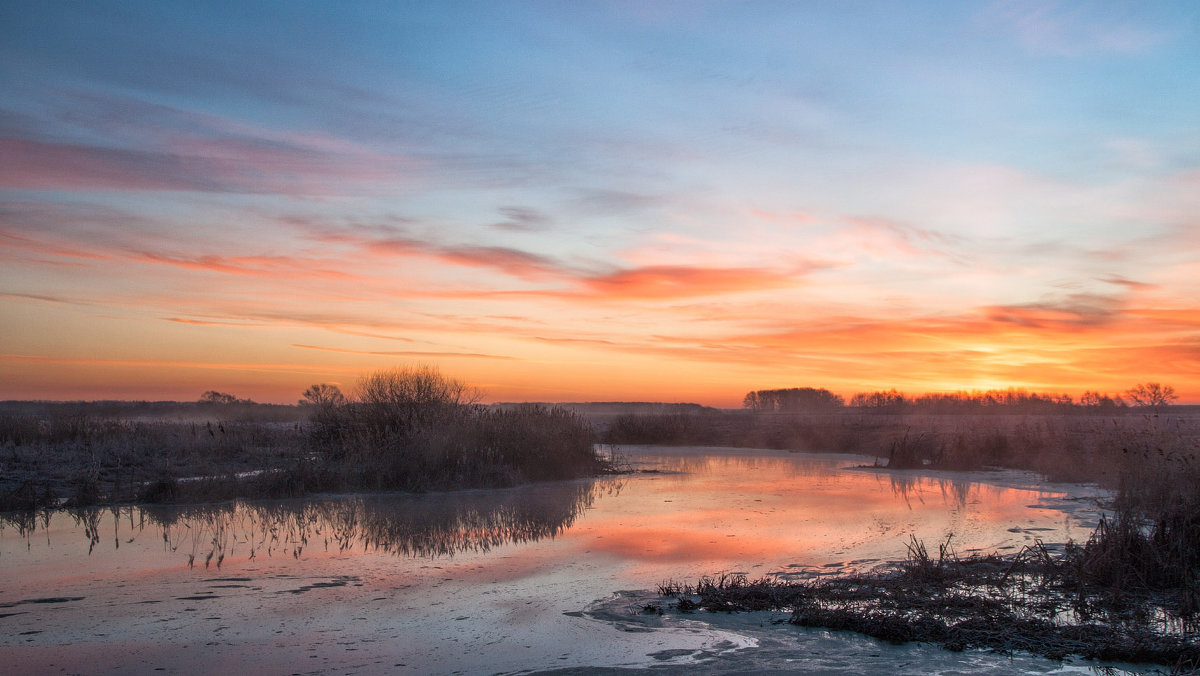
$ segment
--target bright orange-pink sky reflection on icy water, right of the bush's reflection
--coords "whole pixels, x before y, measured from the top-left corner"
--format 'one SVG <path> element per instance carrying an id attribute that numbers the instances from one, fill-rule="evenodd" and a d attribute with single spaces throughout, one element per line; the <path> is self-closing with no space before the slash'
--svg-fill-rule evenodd
<path id="1" fill-rule="evenodd" d="M 678 473 L 637 479 L 619 512 L 600 505 L 569 534 L 649 578 L 671 566 L 768 573 L 902 558 L 911 536 L 990 551 L 1051 531 L 1080 539 L 1087 527 L 1045 509 L 1058 493 L 983 484 L 980 473 L 886 472 L 853 467 L 866 459 L 772 451 L 653 453 L 662 454 L 655 466 Z"/>

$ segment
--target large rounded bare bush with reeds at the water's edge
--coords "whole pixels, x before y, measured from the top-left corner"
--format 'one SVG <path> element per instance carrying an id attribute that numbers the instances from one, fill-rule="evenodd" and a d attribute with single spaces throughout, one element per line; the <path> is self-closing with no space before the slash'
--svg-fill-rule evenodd
<path id="1" fill-rule="evenodd" d="M 341 490 L 508 486 L 608 469 L 578 414 L 478 406 L 434 369 L 382 371 L 350 397 L 330 397 L 314 403 L 311 441 L 323 483 Z"/>

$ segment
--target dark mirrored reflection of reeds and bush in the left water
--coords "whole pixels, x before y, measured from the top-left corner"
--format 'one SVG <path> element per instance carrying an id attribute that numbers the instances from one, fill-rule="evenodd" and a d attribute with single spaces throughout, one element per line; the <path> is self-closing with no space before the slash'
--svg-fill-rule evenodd
<path id="1" fill-rule="evenodd" d="M 71 520 L 83 531 L 89 555 L 102 533 L 112 533 L 114 549 L 156 533 L 164 549 L 205 568 L 220 568 L 232 557 L 300 558 L 314 550 L 442 557 L 554 538 L 599 496 L 619 490 L 620 483 L 608 479 L 426 495 L 46 510 L 0 515 L 0 528 L 17 528 L 30 548 L 38 533 L 49 538 L 56 522 Z"/>

